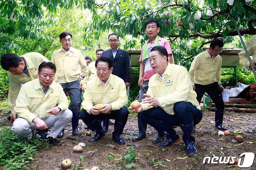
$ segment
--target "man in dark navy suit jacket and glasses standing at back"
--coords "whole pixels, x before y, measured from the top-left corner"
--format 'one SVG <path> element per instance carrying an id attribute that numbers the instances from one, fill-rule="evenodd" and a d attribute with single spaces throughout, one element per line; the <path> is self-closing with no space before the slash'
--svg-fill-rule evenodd
<path id="1" fill-rule="evenodd" d="M 112 74 L 116 75 L 124 80 L 126 87 L 130 86 L 130 59 L 126 50 L 120 49 L 119 36 L 116 33 L 112 33 L 108 37 L 110 49 L 102 52 L 102 56 L 110 57 L 113 61 Z M 103 120 L 103 131 L 106 133 L 109 128 L 109 120 Z"/>

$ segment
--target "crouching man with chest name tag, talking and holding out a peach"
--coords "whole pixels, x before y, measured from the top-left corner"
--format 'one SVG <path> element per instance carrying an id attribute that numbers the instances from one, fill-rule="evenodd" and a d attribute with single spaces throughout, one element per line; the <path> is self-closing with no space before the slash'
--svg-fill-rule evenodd
<path id="1" fill-rule="evenodd" d="M 146 98 L 132 112 L 140 113 L 138 118 L 143 123 L 154 127 L 161 135 L 166 135 L 166 141 L 159 143 L 159 146 L 167 147 L 180 141 L 172 128 L 179 126 L 183 131 L 186 153 L 197 153 L 192 132 L 203 114 L 186 68 L 168 63 L 168 52 L 159 45 L 151 49 L 149 62 L 156 74 L 149 79 L 149 88 L 144 94 Z"/>

